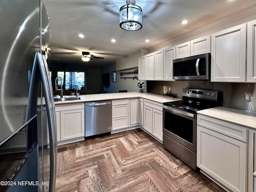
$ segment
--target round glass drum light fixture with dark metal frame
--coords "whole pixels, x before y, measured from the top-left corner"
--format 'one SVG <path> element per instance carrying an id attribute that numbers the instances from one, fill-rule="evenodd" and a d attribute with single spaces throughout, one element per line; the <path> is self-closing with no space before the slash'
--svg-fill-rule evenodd
<path id="1" fill-rule="evenodd" d="M 120 7 L 120 28 L 127 31 L 136 31 L 142 28 L 142 8 L 135 4 L 135 0 L 126 0 L 126 5 Z"/>

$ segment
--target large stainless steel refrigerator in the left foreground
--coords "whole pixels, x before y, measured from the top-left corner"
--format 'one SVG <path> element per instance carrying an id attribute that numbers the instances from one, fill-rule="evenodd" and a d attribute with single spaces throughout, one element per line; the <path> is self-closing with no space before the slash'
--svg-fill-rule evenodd
<path id="1" fill-rule="evenodd" d="M 42 0 L 0 1 L 0 26 L 0 191 L 53 192 L 56 122 Z"/>

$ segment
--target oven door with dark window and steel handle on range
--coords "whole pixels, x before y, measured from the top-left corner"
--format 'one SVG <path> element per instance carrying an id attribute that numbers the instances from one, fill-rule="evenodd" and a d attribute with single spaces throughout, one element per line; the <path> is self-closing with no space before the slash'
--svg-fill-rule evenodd
<path id="1" fill-rule="evenodd" d="M 196 114 L 163 106 L 163 134 L 196 152 Z"/>

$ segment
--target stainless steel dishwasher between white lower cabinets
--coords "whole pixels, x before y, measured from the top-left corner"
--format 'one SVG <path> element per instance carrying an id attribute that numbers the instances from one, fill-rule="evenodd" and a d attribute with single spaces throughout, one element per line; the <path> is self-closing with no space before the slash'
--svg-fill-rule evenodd
<path id="1" fill-rule="evenodd" d="M 111 132 L 112 105 L 109 101 L 85 103 L 85 136 Z"/>

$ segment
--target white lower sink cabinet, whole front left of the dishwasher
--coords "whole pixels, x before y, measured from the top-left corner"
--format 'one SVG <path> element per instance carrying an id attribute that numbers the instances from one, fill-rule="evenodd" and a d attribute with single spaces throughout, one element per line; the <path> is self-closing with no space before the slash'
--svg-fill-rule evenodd
<path id="1" fill-rule="evenodd" d="M 58 142 L 84 137 L 84 103 L 55 106 L 55 115 Z"/>

